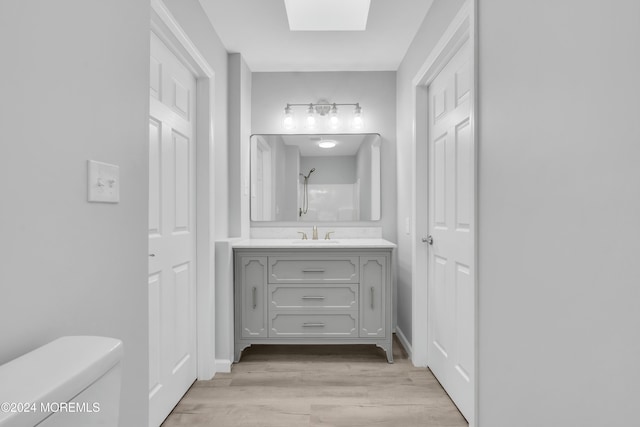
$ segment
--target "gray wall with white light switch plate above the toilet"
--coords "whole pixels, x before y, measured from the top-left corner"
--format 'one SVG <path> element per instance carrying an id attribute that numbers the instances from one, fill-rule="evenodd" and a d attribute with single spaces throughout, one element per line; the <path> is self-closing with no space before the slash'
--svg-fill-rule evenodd
<path id="1" fill-rule="evenodd" d="M 124 427 L 148 418 L 149 19 L 148 2 L 0 2 L 0 364 L 122 339 Z M 120 166 L 120 203 L 87 202 L 88 159 Z"/>

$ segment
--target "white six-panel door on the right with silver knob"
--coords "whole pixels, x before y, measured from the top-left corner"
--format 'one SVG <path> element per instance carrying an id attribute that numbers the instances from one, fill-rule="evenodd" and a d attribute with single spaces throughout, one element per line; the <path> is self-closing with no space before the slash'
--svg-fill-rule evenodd
<path id="1" fill-rule="evenodd" d="M 456 53 L 429 85 L 428 364 L 473 420 L 474 143 L 471 49 Z"/>

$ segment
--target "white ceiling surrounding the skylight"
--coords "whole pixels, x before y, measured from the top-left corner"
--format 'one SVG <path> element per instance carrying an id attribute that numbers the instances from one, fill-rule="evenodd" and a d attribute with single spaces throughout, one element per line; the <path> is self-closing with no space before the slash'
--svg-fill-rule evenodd
<path id="1" fill-rule="evenodd" d="M 395 71 L 433 0 L 371 0 L 366 31 L 290 31 L 284 0 L 200 3 L 251 71 Z"/>

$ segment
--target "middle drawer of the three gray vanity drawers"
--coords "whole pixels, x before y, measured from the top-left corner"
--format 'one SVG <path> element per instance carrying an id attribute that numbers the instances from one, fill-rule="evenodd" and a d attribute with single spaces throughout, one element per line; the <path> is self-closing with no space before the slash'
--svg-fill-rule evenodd
<path id="1" fill-rule="evenodd" d="M 358 285 L 271 284 L 269 285 L 269 309 L 357 310 Z"/>

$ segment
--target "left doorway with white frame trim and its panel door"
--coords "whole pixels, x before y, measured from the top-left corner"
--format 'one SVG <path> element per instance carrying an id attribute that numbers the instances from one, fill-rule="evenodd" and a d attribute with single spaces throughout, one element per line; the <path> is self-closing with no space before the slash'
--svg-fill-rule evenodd
<path id="1" fill-rule="evenodd" d="M 180 388 L 195 379 L 211 379 L 215 373 L 212 242 L 215 208 L 214 71 L 161 0 L 151 0 L 150 41 L 149 270 L 150 273 L 154 270 L 150 274 L 150 285 L 152 281 L 154 284 L 150 286 L 149 315 L 150 327 L 152 317 L 156 325 L 149 331 L 149 425 L 157 427 L 173 408 L 171 400 L 174 397 L 164 399 L 156 409 L 152 408 L 151 400 L 158 393 L 158 386 L 163 386 L 158 381 L 160 376 L 156 374 L 169 372 L 175 375 L 187 368 L 181 376 L 181 385 L 177 387 Z M 165 52 L 158 54 L 158 46 Z M 163 62 L 167 64 L 166 67 Z M 155 174 L 155 178 L 152 174 Z M 171 200 L 173 205 L 168 203 Z M 165 204 L 169 205 L 170 212 L 166 211 Z M 165 221 L 167 219 L 169 221 Z M 181 239 L 155 247 L 152 235 L 154 238 L 173 235 Z M 189 235 L 190 239 L 185 238 Z M 171 261 L 173 254 L 169 255 L 176 251 L 188 253 L 190 258 Z M 163 271 L 159 268 L 162 263 L 168 267 L 164 273 L 158 274 L 158 271 Z M 160 291 L 161 285 L 170 282 L 173 282 L 173 301 L 166 301 L 167 296 L 164 297 L 165 301 L 160 301 L 165 294 Z M 168 310 L 175 311 L 168 315 L 175 320 L 168 326 L 161 325 L 159 321 L 166 314 L 159 311 L 165 305 Z M 186 338 L 177 333 L 178 329 L 185 327 L 191 329 Z M 166 350 L 168 346 L 157 340 L 162 335 L 174 336 L 180 345 Z M 154 339 L 155 343 L 152 342 Z M 180 352 L 174 351 L 176 348 Z"/>

